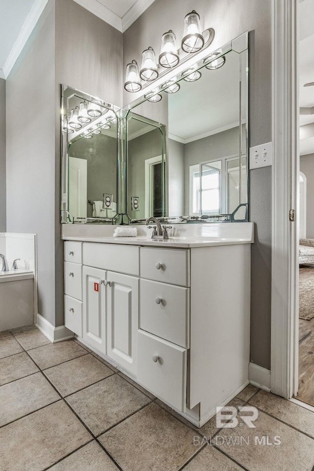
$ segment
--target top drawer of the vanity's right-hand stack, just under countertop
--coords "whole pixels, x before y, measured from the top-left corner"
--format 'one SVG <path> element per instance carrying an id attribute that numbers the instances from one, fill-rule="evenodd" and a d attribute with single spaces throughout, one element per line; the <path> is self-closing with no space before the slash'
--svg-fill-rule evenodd
<path id="1" fill-rule="evenodd" d="M 190 286 L 188 250 L 141 247 L 141 277 L 149 280 Z"/>

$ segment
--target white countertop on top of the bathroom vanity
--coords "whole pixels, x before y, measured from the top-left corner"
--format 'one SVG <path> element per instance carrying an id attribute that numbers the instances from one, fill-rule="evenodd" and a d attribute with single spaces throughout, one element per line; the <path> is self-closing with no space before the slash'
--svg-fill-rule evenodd
<path id="1" fill-rule="evenodd" d="M 153 247 L 193 248 L 214 245 L 251 244 L 252 237 L 169 237 L 167 240 L 152 239 L 147 236 L 113 237 L 113 236 L 62 236 L 63 240 L 97 242 L 104 244 L 142 245 Z"/>

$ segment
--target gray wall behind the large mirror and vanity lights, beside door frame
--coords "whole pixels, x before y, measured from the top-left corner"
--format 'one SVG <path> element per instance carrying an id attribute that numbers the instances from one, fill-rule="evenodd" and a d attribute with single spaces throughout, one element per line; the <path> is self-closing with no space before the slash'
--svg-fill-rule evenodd
<path id="1" fill-rule="evenodd" d="M 250 31 L 250 146 L 271 140 L 271 0 L 156 0 L 123 35 L 124 67 L 152 46 L 159 54 L 161 35 L 173 29 L 178 43 L 183 36 L 184 14 L 195 9 L 202 26 L 213 27 L 210 50 Z M 125 68 L 124 68 L 125 70 Z M 124 92 L 124 104 L 134 97 Z M 160 102 L 162 103 L 162 102 Z M 271 261 L 271 169 L 250 172 L 251 221 L 256 223 L 252 246 L 252 338 L 251 360 L 270 368 L 270 261 Z M 260 237 L 261 235 L 261 237 Z M 261 270 L 261 258 L 267 269 Z M 258 301 L 263 299 L 262 303 Z M 258 326 L 263 324 L 263 330 Z M 255 346 L 258 345 L 258 348 Z"/>

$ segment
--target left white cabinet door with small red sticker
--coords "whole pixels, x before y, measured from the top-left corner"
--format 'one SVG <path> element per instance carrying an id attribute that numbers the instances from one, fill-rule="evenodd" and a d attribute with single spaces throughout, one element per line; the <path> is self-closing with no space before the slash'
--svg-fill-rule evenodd
<path id="1" fill-rule="evenodd" d="M 105 270 L 83 266 L 83 339 L 106 353 Z"/>

